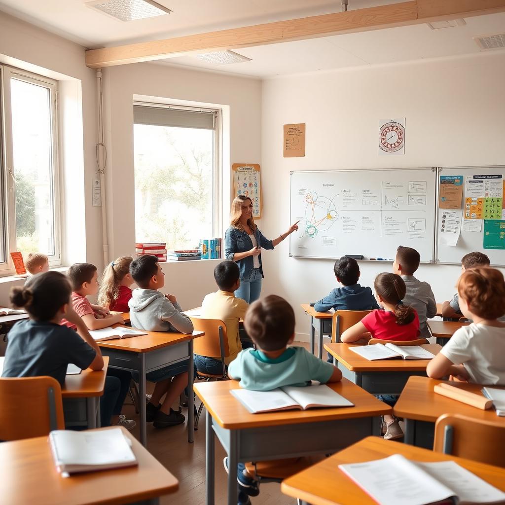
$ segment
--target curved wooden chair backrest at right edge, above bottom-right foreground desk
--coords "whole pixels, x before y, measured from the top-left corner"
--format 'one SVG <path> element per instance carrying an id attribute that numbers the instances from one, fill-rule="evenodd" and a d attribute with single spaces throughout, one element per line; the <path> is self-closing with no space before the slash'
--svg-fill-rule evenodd
<path id="1" fill-rule="evenodd" d="M 433 450 L 505 467 L 505 422 L 443 414 L 435 424 Z"/>

